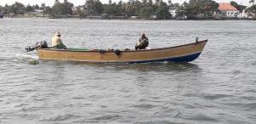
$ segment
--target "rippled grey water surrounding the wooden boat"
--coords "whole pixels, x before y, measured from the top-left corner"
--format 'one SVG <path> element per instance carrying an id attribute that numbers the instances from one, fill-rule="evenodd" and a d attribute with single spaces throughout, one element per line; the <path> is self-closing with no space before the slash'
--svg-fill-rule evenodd
<path id="1" fill-rule="evenodd" d="M 61 31 L 70 48 L 151 48 L 209 39 L 189 64 L 39 60 L 26 46 Z M 0 123 L 256 123 L 255 21 L 0 20 Z"/>

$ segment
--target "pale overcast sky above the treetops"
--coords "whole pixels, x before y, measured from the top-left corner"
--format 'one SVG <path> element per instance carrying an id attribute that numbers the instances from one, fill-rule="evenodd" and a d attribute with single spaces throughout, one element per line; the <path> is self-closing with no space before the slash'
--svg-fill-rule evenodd
<path id="1" fill-rule="evenodd" d="M 85 0 L 68 0 L 69 2 L 73 3 L 75 6 L 83 5 L 85 3 Z M 108 0 L 100 0 L 102 3 L 108 3 Z M 127 2 L 128 0 L 122 0 L 123 2 Z M 154 1 L 154 0 L 153 0 Z M 164 0 L 168 1 L 168 0 Z M 183 3 L 184 0 L 172 0 L 172 3 Z M 189 1 L 189 0 L 186 0 Z M 231 0 L 215 0 L 217 3 L 229 3 Z M 236 3 L 243 4 L 243 5 L 249 5 L 249 0 L 233 0 Z M 7 4 L 13 4 L 15 2 L 23 3 L 27 5 L 28 3 L 31 5 L 38 4 L 41 5 L 41 3 L 45 3 L 47 6 L 52 6 L 55 3 L 55 0 L 0 0 L 0 5 Z M 60 2 L 63 2 L 63 0 L 60 0 Z M 119 2 L 119 0 L 112 0 L 112 2 Z"/>

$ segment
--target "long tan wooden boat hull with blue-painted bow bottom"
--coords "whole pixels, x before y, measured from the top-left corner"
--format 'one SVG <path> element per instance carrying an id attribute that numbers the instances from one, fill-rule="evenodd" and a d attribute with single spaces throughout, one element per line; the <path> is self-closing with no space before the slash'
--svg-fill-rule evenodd
<path id="1" fill-rule="evenodd" d="M 39 59 L 71 60 L 93 63 L 144 63 L 155 61 L 189 62 L 201 54 L 207 40 L 171 48 L 148 50 L 84 50 L 76 48 L 38 48 Z"/>

